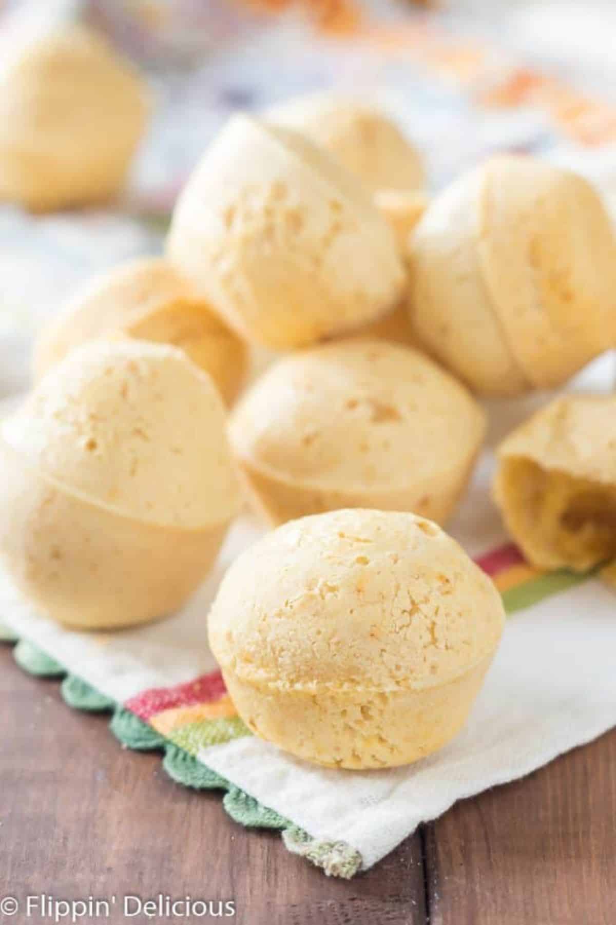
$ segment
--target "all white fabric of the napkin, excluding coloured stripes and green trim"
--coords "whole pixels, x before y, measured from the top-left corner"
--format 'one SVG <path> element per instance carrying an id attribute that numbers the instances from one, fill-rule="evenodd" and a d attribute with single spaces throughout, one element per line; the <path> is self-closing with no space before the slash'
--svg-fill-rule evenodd
<path id="1" fill-rule="evenodd" d="M 612 373 L 613 358 L 604 357 L 573 388 L 609 389 Z M 501 402 L 492 410 L 492 432 L 507 429 L 537 401 Z M 489 499 L 492 466 L 488 449 L 450 524 L 472 555 L 506 539 Z M 216 573 L 166 622 L 117 634 L 69 632 L 33 611 L 0 571 L 1 619 L 118 702 L 191 681 L 216 668 L 205 623 L 220 576 L 261 532 L 250 518 L 240 519 Z M 367 868 L 456 800 L 534 771 L 616 724 L 615 653 L 616 594 L 588 579 L 511 616 L 470 722 L 431 758 L 391 771 L 326 771 L 251 736 L 204 748 L 199 759 L 315 843 L 344 843 Z M 339 872 L 333 862 L 330 872 Z"/>

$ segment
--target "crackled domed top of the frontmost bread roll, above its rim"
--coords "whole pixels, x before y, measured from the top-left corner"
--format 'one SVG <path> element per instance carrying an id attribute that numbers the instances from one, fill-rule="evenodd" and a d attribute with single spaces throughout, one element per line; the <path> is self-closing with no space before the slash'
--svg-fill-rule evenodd
<path id="1" fill-rule="evenodd" d="M 223 670 L 307 692 L 441 685 L 491 654 L 504 611 L 436 524 L 362 509 L 290 521 L 228 570 L 209 618 Z"/>

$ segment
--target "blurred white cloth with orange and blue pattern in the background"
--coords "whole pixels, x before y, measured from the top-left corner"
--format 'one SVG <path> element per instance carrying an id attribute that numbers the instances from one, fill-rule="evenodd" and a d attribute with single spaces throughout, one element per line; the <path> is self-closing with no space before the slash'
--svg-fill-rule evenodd
<path id="1" fill-rule="evenodd" d="M 83 277 L 160 250 L 192 166 L 235 109 L 337 88 L 382 105 L 437 189 L 498 150 L 574 166 L 616 203 L 613 0 L 0 0 L 0 40 L 80 21 L 148 82 L 126 190 L 32 216 L 0 204 L 0 395 Z M 12 43 L 12 40 L 11 40 Z M 3 59 L 0 52 L 0 95 Z"/>

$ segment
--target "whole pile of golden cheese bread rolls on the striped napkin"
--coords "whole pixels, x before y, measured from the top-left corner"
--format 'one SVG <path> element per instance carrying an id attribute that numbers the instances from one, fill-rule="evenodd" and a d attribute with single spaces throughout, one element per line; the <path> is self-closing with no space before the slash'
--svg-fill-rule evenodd
<path id="1" fill-rule="evenodd" d="M 482 446 L 477 396 L 555 388 L 616 339 L 584 179 L 501 156 L 424 187 L 371 107 L 233 117 L 166 256 L 74 296 L 0 433 L 0 553 L 70 626 L 177 609 L 246 489 L 276 529 L 229 570 L 211 647 L 253 731 L 331 767 L 413 761 L 462 727 L 503 628 L 437 526 Z M 253 348 L 281 355 L 234 404 Z M 499 450 L 496 499 L 537 565 L 616 556 L 612 404 L 558 400 Z"/>

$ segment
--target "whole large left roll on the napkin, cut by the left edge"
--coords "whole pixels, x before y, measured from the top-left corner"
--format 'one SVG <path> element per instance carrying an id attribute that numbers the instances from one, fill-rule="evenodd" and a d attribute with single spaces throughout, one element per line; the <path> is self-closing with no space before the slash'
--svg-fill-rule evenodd
<path id="1" fill-rule="evenodd" d="M 172 347 L 92 341 L 0 430 L 0 555 L 32 604 L 83 629 L 175 611 L 239 489 L 209 376 Z"/>

